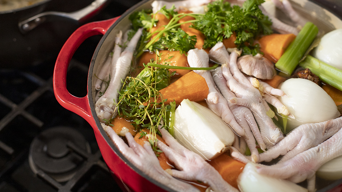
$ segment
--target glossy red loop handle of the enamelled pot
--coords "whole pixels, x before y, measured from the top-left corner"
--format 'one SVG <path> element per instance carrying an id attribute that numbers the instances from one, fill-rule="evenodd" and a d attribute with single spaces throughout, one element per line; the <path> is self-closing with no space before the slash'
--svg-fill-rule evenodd
<path id="1" fill-rule="evenodd" d="M 88 121 L 90 125 L 94 125 L 95 121 L 91 114 L 88 93 L 84 97 L 75 97 L 71 95 L 66 88 L 67 69 L 77 48 L 88 37 L 94 35 L 104 35 L 119 17 L 104 20 L 101 22 L 92 22 L 85 24 L 69 37 L 58 54 L 56 65 L 53 71 L 53 91 L 57 101 L 66 109 L 80 115 Z M 94 126 L 93 126 L 94 127 Z"/>

